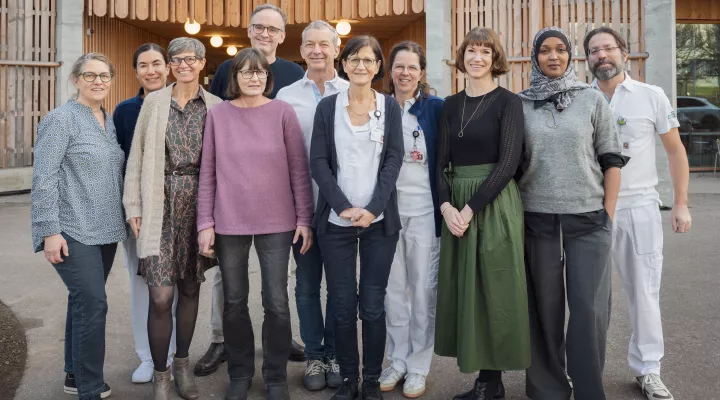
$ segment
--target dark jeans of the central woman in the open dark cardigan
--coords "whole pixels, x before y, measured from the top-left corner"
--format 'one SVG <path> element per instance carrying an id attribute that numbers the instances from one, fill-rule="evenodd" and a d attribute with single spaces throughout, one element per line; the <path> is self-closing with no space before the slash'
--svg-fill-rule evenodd
<path id="1" fill-rule="evenodd" d="M 325 261 L 325 277 L 335 317 L 335 348 L 340 374 L 351 381 L 359 375 L 358 309 L 362 326 L 363 379 L 376 380 L 382 372 L 387 329 L 385 289 L 395 255 L 398 234 L 385 236 L 382 223 L 368 228 L 328 223 L 318 238 Z M 359 246 L 358 246 L 359 245 Z M 360 248 L 360 285 L 357 256 Z M 359 296 L 358 296 L 359 288 Z"/>

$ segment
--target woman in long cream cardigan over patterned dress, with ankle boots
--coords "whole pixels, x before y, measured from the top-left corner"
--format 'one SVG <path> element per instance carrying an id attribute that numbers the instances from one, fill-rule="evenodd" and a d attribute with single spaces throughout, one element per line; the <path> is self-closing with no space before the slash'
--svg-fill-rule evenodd
<path id="1" fill-rule="evenodd" d="M 139 273 L 150 291 L 148 338 L 155 364 L 155 399 L 170 398 L 166 366 L 172 335 L 174 287 L 178 288 L 173 376 L 178 394 L 199 393 L 188 362 L 197 319 L 200 283 L 213 260 L 200 254 L 197 187 L 207 112 L 220 103 L 203 90 L 205 47 L 177 38 L 168 46 L 176 83 L 145 98 L 125 177 L 125 216 L 138 238 Z"/>

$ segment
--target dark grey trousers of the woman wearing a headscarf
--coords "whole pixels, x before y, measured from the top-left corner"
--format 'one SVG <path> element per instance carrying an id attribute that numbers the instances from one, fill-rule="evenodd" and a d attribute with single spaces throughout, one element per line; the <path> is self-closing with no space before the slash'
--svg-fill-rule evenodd
<path id="1" fill-rule="evenodd" d="M 567 369 L 576 399 L 605 400 L 612 222 L 604 211 L 525 213 L 525 228 L 532 341 L 527 395 L 533 400 L 569 400 L 573 390 Z"/>

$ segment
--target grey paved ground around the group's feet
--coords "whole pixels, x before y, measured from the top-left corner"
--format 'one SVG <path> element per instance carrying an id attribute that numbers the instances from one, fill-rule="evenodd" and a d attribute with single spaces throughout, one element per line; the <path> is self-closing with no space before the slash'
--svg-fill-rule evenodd
<path id="1" fill-rule="evenodd" d="M 694 176 L 691 184 L 694 228 L 691 234 L 677 235 L 667 228 L 669 212 L 663 212 L 666 223 L 666 251 L 662 308 L 665 321 L 666 357 L 663 364 L 665 382 L 678 400 L 720 400 L 720 178 L 712 174 Z M 27 329 L 29 357 L 25 376 L 15 399 L 72 399 L 62 394 L 62 348 L 65 322 L 66 291 L 60 278 L 41 254 L 31 253 L 27 196 L 0 198 L 0 300 L 16 313 Z M 130 375 L 137 366 L 130 327 L 128 276 L 121 251 L 108 280 L 110 311 L 107 329 L 105 376 L 115 399 L 150 398 L 149 385 L 133 385 Z M 257 263 L 252 264 L 252 278 L 259 280 Z M 262 308 L 259 285 L 254 285 L 250 299 L 253 324 L 260 326 Z M 197 360 L 209 340 L 209 285 L 203 285 L 200 316 L 190 351 Z M 610 328 L 606 365 L 608 399 L 631 400 L 642 396 L 633 384 L 625 363 L 629 337 L 625 300 L 615 276 L 613 319 Z M 294 309 L 294 303 L 291 309 Z M 296 315 L 295 313 L 293 313 Z M 293 320 L 297 338 L 297 318 Z M 256 335 L 256 339 L 260 337 Z M 256 343 L 259 348 L 260 343 Z M 258 352 L 258 354 L 261 354 Z M 0 355 L 1 357 L 1 355 Z M 260 378 L 261 361 L 251 399 L 263 399 Z M 329 399 L 330 391 L 310 394 L 301 386 L 303 364 L 288 368 L 291 397 L 294 399 Z M 428 379 L 426 399 L 450 399 L 464 391 L 473 377 L 457 371 L 453 359 L 436 357 Z M 226 369 L 201 378 L 203 399 L 222 399 L 227 384 Z M 523 374 L 505 375 L 508 400 L 524 399 Z M 401 399 L 401 393 L 385 397 Z M 6 400 L 6 399 L 0 399 Z M 7 399 L 9 400 L 9 399 Z"/>

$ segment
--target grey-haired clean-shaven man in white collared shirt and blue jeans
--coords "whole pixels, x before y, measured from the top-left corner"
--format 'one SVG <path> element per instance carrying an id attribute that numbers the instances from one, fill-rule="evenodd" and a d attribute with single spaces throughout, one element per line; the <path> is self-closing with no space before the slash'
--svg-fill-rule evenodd
<path id="1" fill-rule="evenodd" d="M 300 54 L 307 63 L 305 76 L 282 89 L 276 99 L 290 104 L 297 114 L 310 156 L 315 109 L 324 97 L 348 89 L 348 82 L 338 77 L 334 60 L 340 52 L 338 34 L 325 21 L 311 22 L 302 33 Z M 317 206 L 318 187 L 313 181 L 313 199 Z M 342 384 L 340 366 L 335 359 L 334 320 L 326 305 L 323 323 L 320 305 L 320 284 L 323 276 L 323 259 L 320 246 L 314 243 L 305 254 L 300 254 L 302 239 L 293 245 L 297 264 L 295 301 L 300 319 L 300 337 L 305 343 L 307 369 L 303 383 L 308 390 L 321 390 L 325 386 L 336 388 Z"/>

